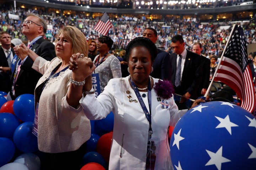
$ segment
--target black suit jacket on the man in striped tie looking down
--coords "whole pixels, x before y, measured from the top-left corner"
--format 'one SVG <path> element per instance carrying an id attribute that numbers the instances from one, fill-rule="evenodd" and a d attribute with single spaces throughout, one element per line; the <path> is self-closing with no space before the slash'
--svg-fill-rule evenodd
<path id="1" fill-rule="evenodd" d="M 178 95 L 184 95 L 186 92 L 191 94 L 191 99 L 197 99 L 200 96 L 197 96 L 197 90 L 199 84 L 202 83 L 202 67 L 201 64 L 201 56 L 187 50 L 186 61 L 182 73 L 181 85 L 179 87 L 175 87 L 175 93 Z M 171 54 L 171 64 L 172 64 L 172 75 L 171 82 L 174 84 L 175 82 L 175 73 L 177 67 L 177 54 Z M 201 91 L 202 89 L 200 89 Z"/>

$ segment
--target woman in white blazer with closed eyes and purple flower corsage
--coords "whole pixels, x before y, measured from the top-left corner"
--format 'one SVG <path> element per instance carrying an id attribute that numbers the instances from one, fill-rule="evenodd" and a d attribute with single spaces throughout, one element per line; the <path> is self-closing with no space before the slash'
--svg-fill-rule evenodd
<path id="1" fill-rule="evenodd" d="M 175 126 L 187 110 L 178 110 L 169 81 L 149 76 L 157 55 L 153 42 L 137 37 L 129 42 L 126 53 L 130 76 L 111 79 L 97 98 L 90 76 L 86 78 L 95 66 L 86 67 L 90 60 L 78 58 L 79 54 L 71 58 L 72 78 L 80 81 L 86 78 L 79 102 L 91 120 L 104 119 L 111 111 L 114 113 L 110 170 L 173 169 L 167 129 Z"/>

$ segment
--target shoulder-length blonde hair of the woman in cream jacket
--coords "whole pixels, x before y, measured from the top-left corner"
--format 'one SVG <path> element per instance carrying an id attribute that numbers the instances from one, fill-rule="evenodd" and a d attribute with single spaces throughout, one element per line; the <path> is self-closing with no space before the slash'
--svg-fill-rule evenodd
<path id="1" fill-rule="evenodd" d="M 85 39 L 84 34 L 76 27 L 66 26 L 59 30 L 59 34 L 63 34 L 63 36 L 71 41 L 72 44 L 72 54 L 81 53 L 85 56 L 88 56 L 88 45 Z M 58 39 L 55 40 L 57 43 Z M 56 50 L 56 46 L 55 46 Z"/>

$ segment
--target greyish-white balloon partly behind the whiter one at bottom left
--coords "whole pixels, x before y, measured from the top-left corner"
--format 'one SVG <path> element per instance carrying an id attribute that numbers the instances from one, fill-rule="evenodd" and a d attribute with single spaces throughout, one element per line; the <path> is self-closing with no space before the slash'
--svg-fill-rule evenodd
<path id="1" fill-rule="evenodd" d="M 26 165 L 28 170 L 40 170 L 40 159 L 33 153 L 23 153 L 14 162 Z"/>

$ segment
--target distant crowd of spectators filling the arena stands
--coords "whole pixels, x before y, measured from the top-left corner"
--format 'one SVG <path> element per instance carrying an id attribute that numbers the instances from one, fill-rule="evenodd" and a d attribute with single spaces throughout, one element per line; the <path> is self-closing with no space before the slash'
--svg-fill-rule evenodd
<path id="1" fill-rule="evenodd" d="M 12 38 L 19 38 L 26 42 L 26 37 L 21 33 L 22 22 L 27 14 L 31 12 L 42 17 L 50 26 L 49 32 L 51 34 L 47 36 L 47 39 L 52 42 L 57 38 L 58 30 L 68 25 L 78 27 L 86 36 L 87 41 L 97 40 L 100 37 L 100 34 L 94 30 L 98 18 L 90 18 L 84 13 L 63 16 L 55 12 L 32 9 L 25 10 L 23 8 L 17 9 L 16 12 L 14 12 L 13 8 L 1 11 L 2 24 L 0 25 L 0 29 L 9 32 Z M 8 13 L 20 16 L 20 20 L 9 19 Z M 198 18 L 170 18 L 164 22 L 153 22 L 150 19 L 127 16 L 110 19 L 113 28 L 109 30 L 107 35 L 113 40 L 112 49 L 116 50 L 116 52 L 125 49 L 130 40 L 137 36 L 142 36 L 145 28 L 152 27 L 158 33 L 156 45 L 162 50 L 172 53 L 173 51 L 170 48 L 171 38 L 176 34 L 181 34 L 188 49 L 192 50 L 194 42 L 200 42 L 203 46 L 203 55 L 218 56 L 223 51 L 225 42 L 228 40 L 230 34 L 230 29 L 219 28 L 220 26 L 232 25 L 229 21 L 219 24 L 201 24 Z M 253 16 L 250 22 L 240 23 L 244 28 L 247 44 L 256 42 L 255 19 L 256 17 Z"/>

